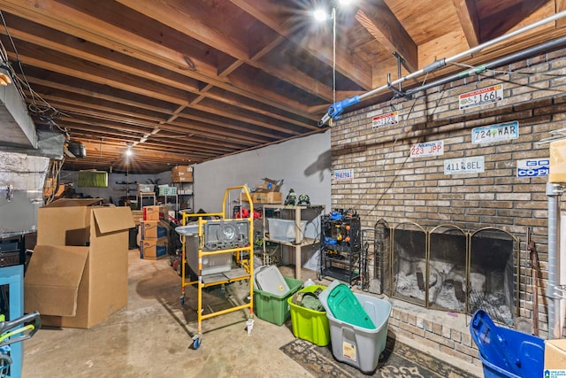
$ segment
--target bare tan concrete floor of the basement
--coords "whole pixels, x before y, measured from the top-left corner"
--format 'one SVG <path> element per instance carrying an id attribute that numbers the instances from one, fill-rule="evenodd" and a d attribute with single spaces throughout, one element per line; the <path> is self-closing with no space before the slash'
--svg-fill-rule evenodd
<path id="1" fill-rule="evenodd" d="M 294 340 L 290 322 L 278 327 L 256 318 L 248 335 L 248 310 L 203 320 L 202 345 L 191 349 L 190 335 L 197 329 L 196 289 L 187 287 L 186 305 L 181 308 L 180 276 L 167 259 L 142 260 L 137 250 L 131 250 L 129 263 L 126 307 L 90 329 L 40 329 L 24 342 L 23 377 L 313 376 L 279 351 Z M 290 267 L 280 270 L 294 276 Z M 303 270 L 302 279 L 308 278 L 317 282 L 315 272 Z M 247 290 L 238 282 L 227 285 L 226 297 L 211 289 L 203 293 L 203 307 L 206 311 L 210 305 L 216 312 L 226 306 L 226 298 L 241 303 Z M 438 354 L 440 359 L 454 360 Z M 481 376 L 478 366 L 454 363 Z"/>

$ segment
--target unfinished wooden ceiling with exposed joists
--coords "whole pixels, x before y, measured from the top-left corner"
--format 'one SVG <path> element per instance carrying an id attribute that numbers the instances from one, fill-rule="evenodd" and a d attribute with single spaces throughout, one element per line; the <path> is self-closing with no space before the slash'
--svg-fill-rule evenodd
<path id="1" fill-rule="evenodd" d="M 86 145 L 87 158 L 65 158 L 65 169 L 125 171 L 131 145 L 129 172 L 155 174 L 324 131 L 317 122 L 334 98 L 382 86 L 387 73 L 397 79 L 394 52 L 406 75 L 566 9 L 565 0 L 358 0 L 349 12 L 336 8 L 334 59 L 332 21 L 316 24 L 310 14 L 321 3 L 332 8 L 316 0 L 0 0 L 0 40 L 34 91 L 25 89 L 38 129 Z M 565 22 L 459 63 L 566 35 Z M 448 65 L 429 80 L 462 70 Z"/>

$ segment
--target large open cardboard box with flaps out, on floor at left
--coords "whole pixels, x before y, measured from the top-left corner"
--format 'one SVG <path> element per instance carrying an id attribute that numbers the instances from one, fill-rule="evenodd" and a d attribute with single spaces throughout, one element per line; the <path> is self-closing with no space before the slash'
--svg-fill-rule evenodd
<path id="1" fill-rule="evenodd" d="M 59 199 L 37 214 L 37 245 L 24 278 L 24 312 L 42 325 L 91 328 L 127 304 L 129 207 Z"/>

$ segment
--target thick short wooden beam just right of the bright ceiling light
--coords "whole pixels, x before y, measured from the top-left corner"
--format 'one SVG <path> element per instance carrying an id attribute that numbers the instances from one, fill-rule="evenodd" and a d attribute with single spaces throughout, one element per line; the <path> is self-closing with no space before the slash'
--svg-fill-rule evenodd
<path id="1" fill-rule="evenodd" d="M 389 53 L 397 52 L 402 56 L 403 66 L 409 73 L 418 70 L 417 43 L 383 0 L 363 4 L 356 12 L 356 19 Z"/>

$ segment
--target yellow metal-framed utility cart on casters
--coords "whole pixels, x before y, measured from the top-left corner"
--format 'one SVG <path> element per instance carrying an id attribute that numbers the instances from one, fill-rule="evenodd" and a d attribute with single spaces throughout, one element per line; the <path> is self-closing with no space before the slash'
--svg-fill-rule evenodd
<path id="1" fill-rule="evenodd" d="M 247 197 L 250 218 L 232 219 L 230 216 L 230 193 L 237 190 L 238 198 Z M 247 320 L 248 333 L 254 322 L 254 222 L 253 203 L 249 190 L 245 186 L 226 189 L 222 201 L 223 212 L 184 213 L 183 226 L 178 233 L 183 243 L 181 258 L 181 297 L 180 305 L 185 304 L 185 288 L 196 285 L 198 329 L 193 336 L 193 348 L 198 349 L 203 340 L 203 320 L 228 312 L 249 308 Z M 189 224 L 187 220 L 197 219 Z M 192 229 L 189 229 L 192 228 Z M 233 262 L 235 261 L 235 264 Z M 234 267 L 235 265 L 235 267 Z M 191 269 L 186 279 L 187 268 Z M 248 301 L 218 312 L 203 313 L 203 289 L 221 286 L 224 294 L 225 285 L 232 282 L 249 282 Z"/>

